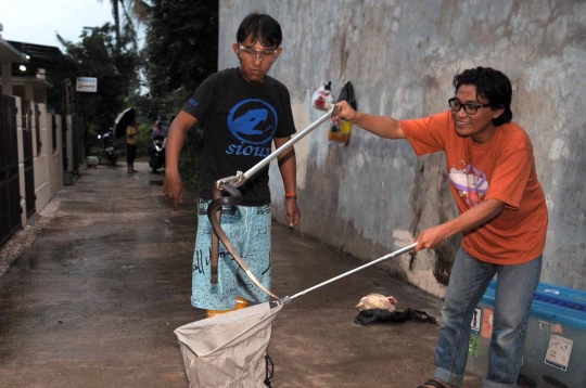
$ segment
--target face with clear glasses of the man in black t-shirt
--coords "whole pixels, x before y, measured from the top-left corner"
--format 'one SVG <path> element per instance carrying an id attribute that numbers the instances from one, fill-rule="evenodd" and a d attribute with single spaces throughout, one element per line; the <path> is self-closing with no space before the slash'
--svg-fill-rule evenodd
<path id="1" fill-rule="evenodd" d="M 253 42 L 252 37 L 232 44 L 232 49 L 240 61 L 242 75 L 252 83 L 263 82 L 282 51 L 281 48 L 264 47 L 259 41 Z"/>

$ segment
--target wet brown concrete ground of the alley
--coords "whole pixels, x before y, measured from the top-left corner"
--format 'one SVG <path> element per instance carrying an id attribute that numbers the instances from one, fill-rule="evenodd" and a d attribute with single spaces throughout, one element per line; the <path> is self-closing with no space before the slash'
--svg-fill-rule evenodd
<path id="1" fill-rule="evenodd" d="M 194 193 L 173 212 L 163 174 L 138 169 L 85 170 L 0 276 L 0 387 L 188 387 L 173 331 L 204 316 L 190 305 Z M 281 224 L 272 233 L 279 296 L 361 264 Z M 277 316 L 273 387 L 417 387 L 432 376 L 437 325 L 357 325 L 354 307 L 369 293 L 440 318 L 440 299 L 375 268 L 336 281 Z"/>

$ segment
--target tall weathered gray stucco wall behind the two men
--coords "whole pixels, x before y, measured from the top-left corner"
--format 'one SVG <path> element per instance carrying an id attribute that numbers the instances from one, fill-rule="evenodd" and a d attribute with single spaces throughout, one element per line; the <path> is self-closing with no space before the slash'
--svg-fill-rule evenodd
<path id="1" fill-rule="evenodd" d="M 297 130 L 322 115 L 310 96 L 327 80 L 336 92 L 352 80 L 360 111 L 413 118 L 446 109 L 466 68 L 508 75 L 550 211 L 542 281 L 586 288 L 585 1 L 221 0 L 218 68 L 238 65 L 231 43 L 253 11 L 283 28 L 270 75 L 290 89 Z M 366 261 L 456 216 L 443 154 L 417 158 L 407 141 L 357 127 L 348 145 L 329 146 L 327 132 L 322 125 L 296 146 L 301 232 Z M 280 176 L 270 173 L 282 222 Z M 382 267 L 443 296 L 458 244 Z"/>

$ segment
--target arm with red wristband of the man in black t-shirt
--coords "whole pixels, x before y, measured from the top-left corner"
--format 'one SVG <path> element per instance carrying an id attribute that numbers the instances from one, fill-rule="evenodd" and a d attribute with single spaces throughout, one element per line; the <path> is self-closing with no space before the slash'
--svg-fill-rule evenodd
<path id="1" fill-rule="evenodd" d="M 284 143 L 291 140 L 289 138 L 273 138 L 275 146 L 281 147 Z M 296 193 L 297 187 L 297 164 L 295 159 L 295 148 L 291 147 L 283 152 L 277 158 L 279 163 L 279 171 L 283 180 L 285 193 Z M 285 221 L 290 227 L 296 227 L 300 223 L 301 212 L 297 207 L 296 198 L 285 198 Z"/>

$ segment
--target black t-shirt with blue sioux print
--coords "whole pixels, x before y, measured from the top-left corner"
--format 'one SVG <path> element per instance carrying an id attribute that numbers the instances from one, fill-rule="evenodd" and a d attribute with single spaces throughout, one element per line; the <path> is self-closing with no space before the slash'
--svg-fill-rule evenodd
<path id="1" fill-rule="evenodd" d="M 250 83 L 238 67 L 205 79 L 183 111 L 205 128 L 199 194 L 204 199 L 213 198 L 217 180 L 245 172 L 267 157 L 272 138 L 295 133 L 286 87 L 269 76 Z M 270 204 L 268 181 L 266 167 L 240 186 L 242 205 Z"/>

